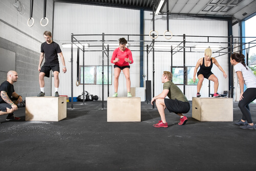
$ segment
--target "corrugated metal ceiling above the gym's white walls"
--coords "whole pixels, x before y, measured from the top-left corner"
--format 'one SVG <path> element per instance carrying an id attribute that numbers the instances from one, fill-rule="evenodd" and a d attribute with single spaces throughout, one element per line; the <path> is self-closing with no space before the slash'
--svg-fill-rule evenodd
<path id="1" fill-rule="evenodd" d="M 144 9 L 153 11 L 164 0 L 54 0 L 54 2 L 91 4 L 119 8 Z M 154 3 L 153 3 L 154 2 Z M 164 1 L 160 14 L 167 13 L 167 0 Z M 254 0 L 168 0 L 169 14 L 233 17 L 243 20 L 256 12 Z"/>

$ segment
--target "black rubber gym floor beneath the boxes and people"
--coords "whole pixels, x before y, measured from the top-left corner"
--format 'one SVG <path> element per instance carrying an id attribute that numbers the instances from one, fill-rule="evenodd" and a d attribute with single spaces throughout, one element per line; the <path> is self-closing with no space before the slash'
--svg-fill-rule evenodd
<path id="1" fill-rule="evenodd" d="M 191 101 L 190 101 L 191 104 Z M 165 111 L 168 128 L 151 104 L 141 102 L 141 122 L 106 122 L 101 101 L 67 104 L 59 122 L 19 121 L 0 116 L 1 170 L 246 170 L 256 168 L 256 131 L 233 122 L 188 121 Z M 105 108 L 107 104 L 105 102 Z M 216 106 L 218 108 L 218 106 Z M 124 109 L 129 110 L 129 109 Z M 214 109 L 212 109 L 214 110 Z M 256 122 L 256 104 L 250 104 Z M 224 115 L 225 113 L 223 113 Z M 233 103 L 233 118 L 242 114 Z"/>

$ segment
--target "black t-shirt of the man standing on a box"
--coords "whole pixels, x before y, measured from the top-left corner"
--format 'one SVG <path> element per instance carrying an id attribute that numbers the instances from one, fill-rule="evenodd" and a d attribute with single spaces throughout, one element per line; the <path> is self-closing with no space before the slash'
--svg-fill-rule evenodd
<path id="1" fill-rule="evenodd" d="M 61 52 L 59 45 L 52 41 L 51 44 L 43 42 L 41 44 L 41 52 L 45 53 L 45 64 L 44 66 L 55 66 L 59 63 L 58 53 Z"/>

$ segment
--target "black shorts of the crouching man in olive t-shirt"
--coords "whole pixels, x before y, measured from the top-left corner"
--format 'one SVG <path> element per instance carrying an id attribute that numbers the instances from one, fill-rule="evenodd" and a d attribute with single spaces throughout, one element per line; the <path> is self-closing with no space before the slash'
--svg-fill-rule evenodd
<path id="1" fill-rule="evenodd" d="M 177 99 L 164 99 L 164 104 L 169 112 L 178 113 L 188 113 L 190 110 L 189 102 L 180 101 Z"/>

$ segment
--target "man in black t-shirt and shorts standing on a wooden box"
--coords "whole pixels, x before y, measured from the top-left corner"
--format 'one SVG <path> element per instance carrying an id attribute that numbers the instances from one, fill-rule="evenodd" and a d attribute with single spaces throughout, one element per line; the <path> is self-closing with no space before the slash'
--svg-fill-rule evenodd
<path id="1" fill-rule="evenodd" d="M 37 95 L 38 97 L 45 96 L 45 76 L 50 77 L 50 71 L 53 71 L 54 75 L 54 87 L 55 87 L 55 97 L 59 97 L 58 88 L 59 88 L 59 60 L 58 60 L 58 54 L 60 56 L 62 65 L 63 65 L 63 73 L 67 72 L 66 65 L 65 65 L 65 59 L 62 55 L 62 52 L 60 50 L 59 45 L 52 40 L 52 33 L 50 31 L 44 32 L 44 37 L 46 39 L 46 42 L 41 44 L 41 54 L 39 59 L 39 86 L 41 92 Z M 45 57 L 45 63 L 41 67 L 42 60 L 44 60 Z"/>

